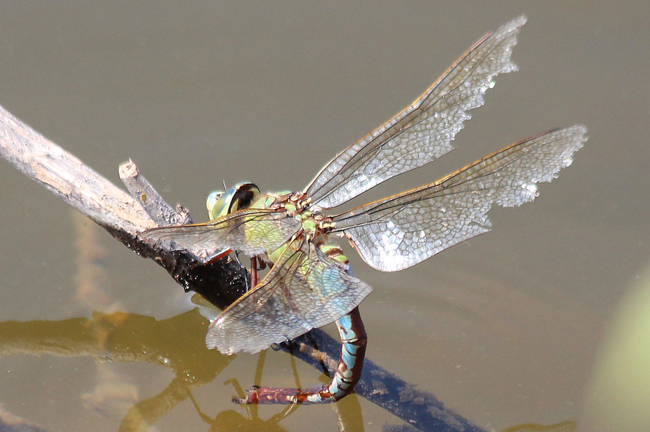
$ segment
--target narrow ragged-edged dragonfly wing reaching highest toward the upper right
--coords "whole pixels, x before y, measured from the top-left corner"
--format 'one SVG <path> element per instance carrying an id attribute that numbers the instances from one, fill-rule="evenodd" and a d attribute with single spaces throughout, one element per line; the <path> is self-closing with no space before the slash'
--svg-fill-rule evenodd
<path id="1" fill-rule="evenodd" d="M 516 70 L 510 55 L 525 22 L 519 17 L 484 36 L 420 98 L 339 153 L 305 189 L 315 208 L 336 207 L 452 150 L 467 111 L 483 105 L 494 77 Z"/>

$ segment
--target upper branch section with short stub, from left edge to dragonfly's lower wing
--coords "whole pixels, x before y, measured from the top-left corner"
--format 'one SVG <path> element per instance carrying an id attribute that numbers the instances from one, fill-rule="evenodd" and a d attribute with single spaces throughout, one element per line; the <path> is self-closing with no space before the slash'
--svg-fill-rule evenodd
<path id="1" fill-rule="evenodd" d="M 194 290 L 224 308 L 246 292 L 246 270 L 228 258 L 204 265 L 188 253 L 142 241 L 137 234 L 191 220 L 172 209 L 139 175 L 131 161 L 120 176 L 140 200 L 115 186 L 81 160 L 48 140 L 0 106 L 0 156 L 19 171 L 106 229 L 139 255 L 164 267 L 185 290 Z M 143 204 L 146 202 L 146 205 Z"/>

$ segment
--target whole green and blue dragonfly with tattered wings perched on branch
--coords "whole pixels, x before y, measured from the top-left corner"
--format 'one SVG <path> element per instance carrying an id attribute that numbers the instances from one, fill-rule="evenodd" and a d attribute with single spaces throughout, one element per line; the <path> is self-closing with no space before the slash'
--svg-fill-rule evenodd
<path id="1" fill-rule="evenodd" d="M 366 335 L 357 306 L 370 293 L 349 273 L 331 235 L 345 236 L 370 266 L 397 271 L 490 229 L 493 204 L 513 207 L 537 197 L 536 183 L 569 166 L 586 141 L 573 126 L 513 144 L 416 189 L 330 216 L 398 174 L 452 150 L 451 141 L 483 104 L 494 77 L 511 72 L 520 17 L 489 33 L 420 98 L 329 162 L 303 192 L 260 195 L 246 183 L 208 200 L 211 222 L 154 229 L 142 237 L 187 250 L 203 261 L 235 250 L 273 263 L 262 281 L 210 326 L 209 348 L 256 353 L 336 321 L 343 349 L 329 385 L 254 388 L 243 403 L 317 403 L 342 398 L 361 375 Z"/>

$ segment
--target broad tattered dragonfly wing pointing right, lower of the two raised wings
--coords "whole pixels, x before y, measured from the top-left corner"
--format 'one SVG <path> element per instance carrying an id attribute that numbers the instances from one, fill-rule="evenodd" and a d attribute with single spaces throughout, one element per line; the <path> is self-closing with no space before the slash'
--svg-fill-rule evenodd
<path id="1" fill-rule="evenodd" d="M 493 204 L 533 201 L 587 140 L 583 126 L 529 138 L 435 182 L 333 218 L 372 267 L 397 271 L 490 230 Z"/>

